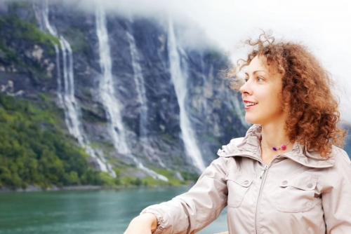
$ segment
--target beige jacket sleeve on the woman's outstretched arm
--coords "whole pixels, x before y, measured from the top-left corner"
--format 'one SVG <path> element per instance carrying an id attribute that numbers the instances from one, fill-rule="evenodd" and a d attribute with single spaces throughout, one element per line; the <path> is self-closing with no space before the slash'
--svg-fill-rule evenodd
<path id="1" fill-rule="evenodd" d="M 196 233 L 215 220 L 227 206 L 227 181 L 225 160 L 213 160 L 190 191 L 168 202 L 151 205 L 142 213 L 157 216 L 154 234 Z"/>

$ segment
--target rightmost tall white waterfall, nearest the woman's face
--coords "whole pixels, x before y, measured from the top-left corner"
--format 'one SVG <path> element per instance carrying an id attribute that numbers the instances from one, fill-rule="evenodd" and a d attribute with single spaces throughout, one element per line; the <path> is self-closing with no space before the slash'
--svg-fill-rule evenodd
<path id="1" fill-rule="evenodd" d="M 201 152 L 197 146 L 195 133 L 192 129 L 192 125 L 190 123 L 190 119 L 185 106 L 185 101 L 187 98 L 187 73 L 182 70 L 182 64 L 185 64 L 185 61 L 182 61 L 180 58 L 178 50 L 181 50 L 181 48 L 179 48 L 177 45 L 176 35 L 171 20 L 168 22 L 167 48 L 171 79 L 176 90 L 178 105 L 180 109 L 180 130 L 182 131 L 185 150 L 187 151 L 187 155 L 192 158 L 194 166 L 203 171 L 205 169 L 204 161 L 202 160 Z"/>

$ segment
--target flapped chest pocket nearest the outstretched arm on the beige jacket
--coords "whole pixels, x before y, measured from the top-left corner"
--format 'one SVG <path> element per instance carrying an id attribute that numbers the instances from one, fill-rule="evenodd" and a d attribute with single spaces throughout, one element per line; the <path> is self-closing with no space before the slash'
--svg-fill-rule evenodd
<path id="1" fill-rule="evenodd" d="M 228 207 L 239 207 L 244 195 L 249 190 L 254 177 L 245 176 L 243 174 L 235 174 L 229 172 L 225 179 L 228 188 Z"/>

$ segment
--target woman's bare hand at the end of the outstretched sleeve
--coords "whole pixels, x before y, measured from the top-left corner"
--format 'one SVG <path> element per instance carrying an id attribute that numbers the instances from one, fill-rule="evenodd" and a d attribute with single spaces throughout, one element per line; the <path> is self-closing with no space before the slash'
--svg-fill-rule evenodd
<path id="1" fill-rule="evenodd" d="M 157 218 L 154 214 L 145 213 L 136 216 L 124 234 L 151 234 L 157 228 Z"/>

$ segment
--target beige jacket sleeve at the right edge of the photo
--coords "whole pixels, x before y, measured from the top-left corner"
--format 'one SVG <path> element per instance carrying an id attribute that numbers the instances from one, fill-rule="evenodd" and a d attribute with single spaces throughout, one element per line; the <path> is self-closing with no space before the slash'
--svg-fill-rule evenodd
<path id="1" fill-rule="evenodd" d="M 337 149 L 322 191 L 326 233 L 351 233 L 351 165 L 347 153 Z"/>

